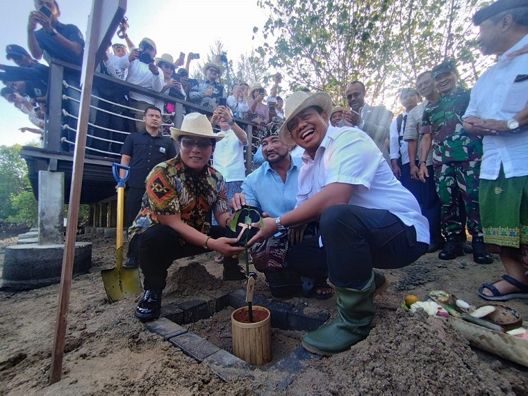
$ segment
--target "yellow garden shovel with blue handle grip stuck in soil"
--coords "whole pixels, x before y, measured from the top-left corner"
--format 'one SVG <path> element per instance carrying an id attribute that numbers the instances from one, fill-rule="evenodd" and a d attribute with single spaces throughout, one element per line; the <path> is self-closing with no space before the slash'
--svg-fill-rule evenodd
<path id="1" fill-rule="evenodd" d="M 140 272 L 137 267 L 123 267 L 123 217 L 124 217 L 124 183 L 129 179 L 130 167 L 112 164 L 114 179 L 117 181 L 117 238 L 116 264 L 115 267 L 101 271 L 104 288 L 110 302 L 133 297 L 142 291 Z M 125 170 L 123 178 L 119 176 L 119 170 Z"/>

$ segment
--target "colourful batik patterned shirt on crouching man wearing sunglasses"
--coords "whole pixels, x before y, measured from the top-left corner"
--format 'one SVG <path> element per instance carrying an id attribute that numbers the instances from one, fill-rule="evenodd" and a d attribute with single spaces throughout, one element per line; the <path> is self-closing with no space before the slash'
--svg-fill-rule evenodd
<path id="1" fill-rule="evenodd" d="M 211 210 L 229 211 L 222 174 L 209 165 L 197 173 L 183 163 L 179 154 L 156 165 L 147 176 L 146 187 L 140 213 L 129 229 L 129 240 L 160 224 L 157 215 L 180 215 L 185 224 L 205 234 L 211 228 Z"/>

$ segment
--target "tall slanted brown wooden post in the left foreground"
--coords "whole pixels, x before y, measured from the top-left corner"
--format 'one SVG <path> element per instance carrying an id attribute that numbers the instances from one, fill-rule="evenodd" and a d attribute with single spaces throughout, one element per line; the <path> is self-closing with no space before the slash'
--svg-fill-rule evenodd
<path id="1" fill-rule="evenodd" d="M 60 381 L 63 370 L 64 345 L 67 328 L 67 314 L 69 306 L 69 292 L 72 287 L 72 273 L 74 266 L 75 238 L 77 220 L 79 218 L 79 202 L 81 201 L 81 185 L 83 183 L 84 152 L 86 149 L 86 133 L 88 131 L 88 115 L 90 114 L 90 97 L 95 69 L 95 53 L 99 36 L 99 24 L 95 23 L 101 18 L 102 0 L 94 0 L 92 12 L 88 19 L 88 40 L 85 48 L 86 67 L 81 91 L 81 107 L 77 120 L 77 135 L 75 139 L 74 165 L 72 172 L 72 185 L 69 190 L 69 205 L 66 226 L 66 242 L 63 256 L 63 270 L 60 274 L 60 290 L 58 297 L 57 317 L 55 323 L 55 340 L 51 354 L 50 383 Z M 90 40 L 91 38 L 91 40 Z"/>

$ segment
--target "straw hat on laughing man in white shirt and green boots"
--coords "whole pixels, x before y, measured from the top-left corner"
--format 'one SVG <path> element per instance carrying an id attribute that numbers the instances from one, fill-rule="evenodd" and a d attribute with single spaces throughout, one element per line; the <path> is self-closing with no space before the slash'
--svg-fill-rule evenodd
<path id="1" fill-rule="evenodd" d="M 290 97 L 286 99 L 284 104 L 284 117 L 286 117 L 286 119 L 279 131 L 279 138 L 286 147 L 291 148 L 297 145 L 288 129 L 288 122 L 290 122 L 291 119 L 302 110 L 310 106 L 319 106 L 323 111 L 330 115 L 332 111 L 332 99 L 330 99 L 329 94 L 325 92 L 311 94 L 304 91 L 293 92 Z"/>

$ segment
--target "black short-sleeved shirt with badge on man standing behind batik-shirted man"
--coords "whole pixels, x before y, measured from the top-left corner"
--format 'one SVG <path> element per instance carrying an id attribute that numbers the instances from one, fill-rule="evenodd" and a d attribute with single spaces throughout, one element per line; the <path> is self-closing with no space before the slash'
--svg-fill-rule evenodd
<path id="1" fill-rule="evenodd" d="M 151 136 L 147 131 L 126 136 L 121 154 L 131 156 L 130 177 L 127 182 L 133 188 L 145 188 L 145 179 L 158 163 L 176 156 L 176 148 L 171 138 L 161 134 Z"/>

